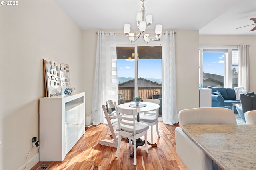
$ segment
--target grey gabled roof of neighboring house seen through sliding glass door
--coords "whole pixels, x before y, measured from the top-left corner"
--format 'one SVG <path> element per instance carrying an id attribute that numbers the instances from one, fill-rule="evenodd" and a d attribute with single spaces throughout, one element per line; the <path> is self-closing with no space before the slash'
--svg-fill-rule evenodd
<path id="1" fill-rule="evenodd" d="M 138 78 L 138 87 L 139 88 L 148 88 L 148 87 L 159 88 L 159 87 L 162 87 L 162 84 L 159 84 L 157 82 L 152 82 L 150 80 L 140 77 Z M 134 88 L 134 79 L 118 84 L 118 88 Z"/>

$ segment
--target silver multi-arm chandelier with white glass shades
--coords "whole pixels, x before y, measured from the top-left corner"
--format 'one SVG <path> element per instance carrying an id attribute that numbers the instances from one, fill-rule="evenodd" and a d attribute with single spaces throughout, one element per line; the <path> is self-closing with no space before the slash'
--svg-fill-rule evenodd
<path id="1" fill-rule="evenodd" d="M 131 25 L 126 23 L 124 24 L 124 34 L 129 37 L 131 42 L 135 42 L 137 41 L 140 36 L 143 37 L 145 43 L 148 43 L 149 40 L 154 40 L 154 41 L 160 41 L 161 37 L 162 37 L 162 25 L 158 24 L 156 25 L 155 28 L 155 33 L 156 36 L 155 37 L 150 37 L 148 33 L 146 33 L 146 27 L 150 26 L 152 24 L 152 15 L 147 15 L 146 16 L 146 21 L 145 21 L 145 14 L 146 14 L 146 9 L 144 6 L 144 2 L 146 0 L 140 0 L 142 1 L 142 7 L 141 7 L 141 11 L 137 13 L 137 27 L 140 30 L 140 33 L 138 33 L 137 35 L 135 35 L 135 33 L 130 33 L 130 29 L 131 29 Z M 136 39 L 135 39 L 136 38 Z"/>

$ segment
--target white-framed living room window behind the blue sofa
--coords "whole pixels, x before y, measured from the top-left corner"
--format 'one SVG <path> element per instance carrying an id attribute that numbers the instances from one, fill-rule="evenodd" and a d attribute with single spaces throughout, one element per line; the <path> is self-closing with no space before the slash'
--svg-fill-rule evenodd
<path id="1" fill-rule="evenodd" d="M 199 84 L 204 88 L 238 86 L 237 46 L 200 46 L 199 53 Z"/>

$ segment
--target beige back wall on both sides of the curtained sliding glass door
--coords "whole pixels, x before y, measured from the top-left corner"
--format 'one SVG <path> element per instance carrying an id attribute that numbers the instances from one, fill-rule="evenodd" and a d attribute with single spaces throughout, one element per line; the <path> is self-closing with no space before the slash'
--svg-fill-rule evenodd
<path id="1" fill-rule="evenodd" d="M 104 31 L 104 30 L 100 30 Z M 105 30 L 109 32 L 109 30 Z M 114 30 L 112 30 L 114 31 Z M 86 92 L 86 113 L 91 112 L 98 30 L 83 31 L 83 84 Z M 116 32 L 122 32 L 117 30 Z M 117 35 L 120 36 L 120 35 Z M 176 31 L 176 96 L 177 112 L 199 107 L 198 31 Z"/>

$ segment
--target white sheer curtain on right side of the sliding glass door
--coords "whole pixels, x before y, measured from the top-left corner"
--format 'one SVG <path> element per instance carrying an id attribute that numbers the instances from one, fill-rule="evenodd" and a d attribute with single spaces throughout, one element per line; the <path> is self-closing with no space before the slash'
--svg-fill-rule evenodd
<path id="1" fill-rule="evenodd" d="M 163 34 L 162 45 L 162 117 L 165 124 L 178 123 L 176 108 L 176 66 L 174 32 Z"/>

